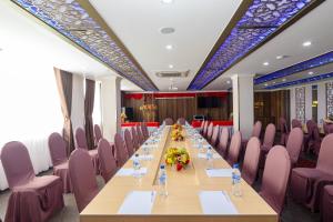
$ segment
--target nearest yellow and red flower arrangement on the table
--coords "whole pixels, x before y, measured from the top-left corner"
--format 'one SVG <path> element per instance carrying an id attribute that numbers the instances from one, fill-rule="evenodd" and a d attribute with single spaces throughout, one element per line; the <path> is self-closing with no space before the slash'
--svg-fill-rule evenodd
<path id="1" fill-rule="evenodd" d="M 165 153 L 167 165 L 175 165 L 176 171 L 184 169 L 190 163 L 190 155 L 184 148 L 169 148 Z"/>

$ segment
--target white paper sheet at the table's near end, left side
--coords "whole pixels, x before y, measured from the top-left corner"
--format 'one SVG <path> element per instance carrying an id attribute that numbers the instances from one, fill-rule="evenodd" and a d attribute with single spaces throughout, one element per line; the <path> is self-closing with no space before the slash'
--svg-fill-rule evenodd
<path id="1" fill-rule="evenodd" d="M 131 191 L 122 202 L 118 214 L 151 214 L 155 191 Z"/>

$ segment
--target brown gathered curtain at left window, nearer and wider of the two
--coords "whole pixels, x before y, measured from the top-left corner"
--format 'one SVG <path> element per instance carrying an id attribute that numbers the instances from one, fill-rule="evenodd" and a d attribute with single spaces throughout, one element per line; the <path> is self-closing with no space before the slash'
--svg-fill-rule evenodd
<path id="1" fill-rule="evenodd" d="M 73 74 L 54 68 L 57 87 L 60 95 L 61 111 L 63 114 L 62 137 L 67 142 L 68 155 L 74 150 L 73 129 L 71 122 L 72 109 L 72 82 Z"/>

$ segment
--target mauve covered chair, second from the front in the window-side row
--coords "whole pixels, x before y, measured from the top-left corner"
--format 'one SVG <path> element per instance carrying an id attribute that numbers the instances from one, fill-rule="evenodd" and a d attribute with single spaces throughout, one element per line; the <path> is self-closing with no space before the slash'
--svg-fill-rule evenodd
<path id="1" fill-rule="evenodd" d="M 68 170 L 65 142 L 58 132 L 53 132 L 49 137 L 49 150 L 53 165 L 53 175 L 61 178 L 63 192 L 70 193 L 72 191 L 72 185 Z"/>

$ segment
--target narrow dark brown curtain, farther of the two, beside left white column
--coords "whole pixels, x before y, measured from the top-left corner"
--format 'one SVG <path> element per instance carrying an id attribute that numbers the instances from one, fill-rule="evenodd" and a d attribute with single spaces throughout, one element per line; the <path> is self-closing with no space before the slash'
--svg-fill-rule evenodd
<path id="1" fill-rule="evenodd" d="M 94 81 L 85 79 L 85 98 L 84 98 L 84 119 L 85 119 L 85 138 L 90 150 L 94 148 L 93 140 L 93 101 L 94 101 Z"/>

